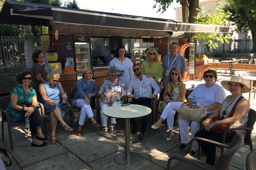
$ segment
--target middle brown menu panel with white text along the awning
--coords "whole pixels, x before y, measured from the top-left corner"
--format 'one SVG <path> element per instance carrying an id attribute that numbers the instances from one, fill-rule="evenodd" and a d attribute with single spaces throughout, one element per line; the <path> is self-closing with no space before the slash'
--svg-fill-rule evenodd
<path id="1" fill-rule="evenodd" d="M 95 26 L 93 35 L 135 36 L 136 29 Z"/>

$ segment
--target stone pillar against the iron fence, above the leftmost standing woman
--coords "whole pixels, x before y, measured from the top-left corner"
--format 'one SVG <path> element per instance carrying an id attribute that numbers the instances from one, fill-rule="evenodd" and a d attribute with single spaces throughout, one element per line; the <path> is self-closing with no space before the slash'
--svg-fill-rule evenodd
<path id="1" fill-rule="evenodd" d="M 32 54 L 34 53 L 33 40 L 35 36 L 31 34 L 31 27 L 24 26 L 24 50 L 26 56 L 26 64 L 31 67 L 33 65 Z"/>

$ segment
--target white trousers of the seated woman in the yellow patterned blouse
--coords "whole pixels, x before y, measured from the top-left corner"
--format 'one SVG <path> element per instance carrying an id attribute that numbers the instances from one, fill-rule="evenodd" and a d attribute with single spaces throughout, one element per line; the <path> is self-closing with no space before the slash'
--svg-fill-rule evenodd
<path id="1" fill-rule="evenodd" d="M 178 111 L 179 106 L 181 106 L 183 102 L 174 101 L 166 104 L 165 109 L 160 116 L 163 120 L 166 119 L 168 130 L 173 130 L 173 121 L 174 121 L 174 114 Z"/>

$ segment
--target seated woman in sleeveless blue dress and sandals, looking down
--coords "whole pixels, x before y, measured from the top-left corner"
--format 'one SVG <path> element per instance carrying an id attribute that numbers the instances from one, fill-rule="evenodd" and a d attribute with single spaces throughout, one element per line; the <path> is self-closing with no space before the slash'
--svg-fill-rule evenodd
<path id="1" fill-rule="evenodd" d="M 73 128 L 69 127 L 67 123 L 65 123 L 63 120 L 65 112 L 62 110 L 62 106 L 60 103 L 60 96 L 62 96 L 62 98 L 65 96 L 65 98 L 67 99 L 67 95 L 65 95 L 59 80 L 60 80 L 59 73 L 50 72 L 47 75 L 47 81 L 39 85 L 39 91 L 42 96 L 41 103 L 44 105 L 44 111 L 46 113 L 47 120 L 50 120 L 51 122 L 51 128 L 52 128 L 51 144 L 54 144 L 57 142 L 57 138 L 55 135 L 57 120 L 59 120 L 59 122 L 61 123 L 65 131 L 72 132 L 74 130 Z"/>

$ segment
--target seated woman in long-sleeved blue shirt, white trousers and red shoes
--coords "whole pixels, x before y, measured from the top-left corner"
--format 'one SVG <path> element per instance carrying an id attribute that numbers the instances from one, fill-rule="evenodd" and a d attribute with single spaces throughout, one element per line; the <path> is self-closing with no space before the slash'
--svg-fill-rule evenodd
<path id="1" fill-rule="evenodd" d="M 85 123 L 86 115 L 91 119 L 93 127 L 100 127 L 99 123 L 93 118 L 93 111 L 91 110 L 91 107 L 95 107 L 94 96 L 98 94 L 98 90 L 95 81 L 91 79 L 93 72 L 89 67 L 83 69 L 82 77 L 83 79 L 77 81 L 77 92 L 73 98 L 75 107 L 81 108 L 77 136 L 83 135 L 82 126 Z"/>

